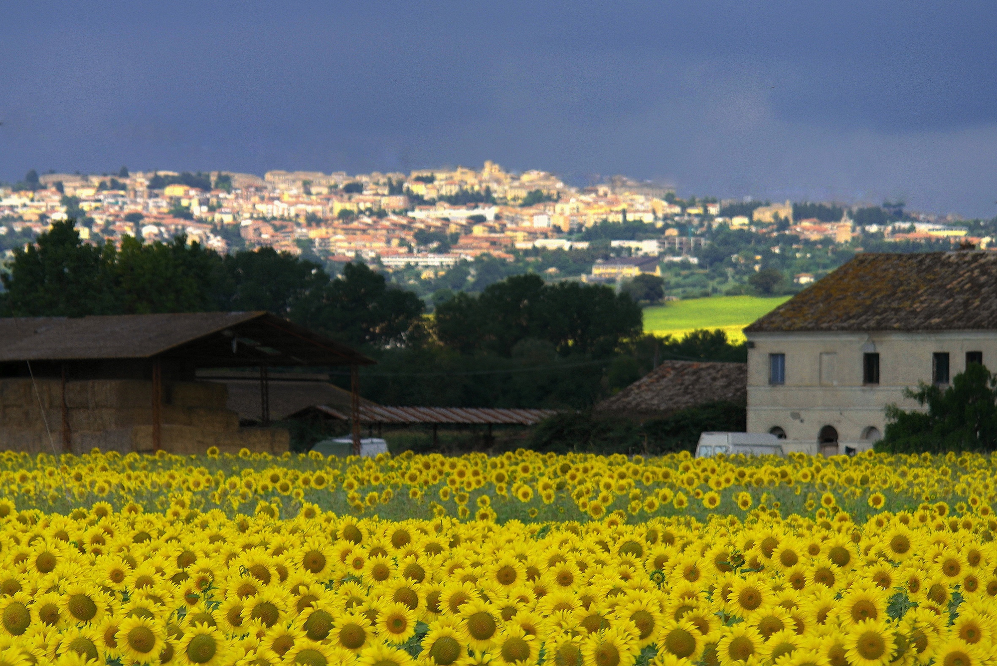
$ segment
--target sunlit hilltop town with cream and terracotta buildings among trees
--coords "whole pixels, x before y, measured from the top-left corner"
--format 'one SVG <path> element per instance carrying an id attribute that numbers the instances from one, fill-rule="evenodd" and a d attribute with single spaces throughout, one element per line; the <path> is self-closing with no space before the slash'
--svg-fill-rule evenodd
<path id="1" fill-rule="evenodd" d="M 221 253 L 269 246 L 325 264 L 362 260 L 420 294 L 531 270 L 548 279 L 667 278 L 673 297 L 743 293 L 764 268 L 793 290 L 856 251 L 970 243 L 990 222 L 842 206 L 681 199 L 672 187 L 613 176 L 573 187 L 542 170 L 492 162 L 409 173 L 30 171 L 0 186 L 0 250 L 74 217 L 89 242 L 185 234 Z M 756 285 L 757 286 L 757 285 Z M 740 291 L 739 291 L 740 290 Z"/>

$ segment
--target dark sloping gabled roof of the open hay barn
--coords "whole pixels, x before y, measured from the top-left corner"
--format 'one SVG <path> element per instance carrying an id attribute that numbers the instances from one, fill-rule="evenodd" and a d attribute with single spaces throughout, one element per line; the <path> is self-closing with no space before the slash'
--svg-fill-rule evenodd
<path id="1" fill-rule="evenodd" d="M 0 363 L 149 358 L 200 368 L 373 363 L 268 312 L 3 318 L 0 340 Z"/>

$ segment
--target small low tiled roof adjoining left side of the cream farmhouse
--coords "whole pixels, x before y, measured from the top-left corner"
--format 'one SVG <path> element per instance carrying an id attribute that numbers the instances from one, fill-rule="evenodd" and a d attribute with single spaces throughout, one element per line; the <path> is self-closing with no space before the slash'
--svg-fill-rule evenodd
<path id="1" fill-rule="evenodd" d="M 745 363 L 665 361 L 615 396 L 603 400 L 595 406 L 595 411 L 651 417 L 725 400 L 743 403 L 747 384 Z"/>

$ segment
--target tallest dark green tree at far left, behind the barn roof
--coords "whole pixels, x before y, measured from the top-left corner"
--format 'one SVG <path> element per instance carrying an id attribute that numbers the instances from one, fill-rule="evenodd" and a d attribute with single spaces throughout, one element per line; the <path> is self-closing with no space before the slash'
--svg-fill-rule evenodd
<path id="1" fill-rule="evenodd" d="M 115 314 L 113 246 L 80 240 L 74 219 L 55 222 L 35 244 L 16 248 L 0 312 L 7 317 L 83 317 Z"/>

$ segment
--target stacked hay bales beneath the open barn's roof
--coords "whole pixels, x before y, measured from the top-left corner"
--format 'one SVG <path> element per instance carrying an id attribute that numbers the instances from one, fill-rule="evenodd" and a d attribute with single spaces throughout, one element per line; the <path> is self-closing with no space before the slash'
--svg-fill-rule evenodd
<path id="1" fill-rule="evenodd" d="M 236 453 L 287 451 L 286 430 L 239 428 L 238 415 L 225 409 L 223 384 L 167 382 L 160 409 L 162 447 L 175 454 L 203 453 L 208 447 Z M 66 383 L 70 446 L 74 453 L 153 451 L 153 383 L 88 380 Z M 0 379 L 0 451 L 63 452 L 63 398 L 60 380 Z"/>

